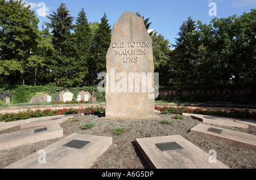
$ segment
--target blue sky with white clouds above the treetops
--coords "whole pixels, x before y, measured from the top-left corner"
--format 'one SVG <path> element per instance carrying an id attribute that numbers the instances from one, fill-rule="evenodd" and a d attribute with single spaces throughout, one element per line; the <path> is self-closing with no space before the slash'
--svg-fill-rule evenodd
<path id="1" fill-rule="evenodd" d="M 56 11 L 61 2 L 65 3 L 74 17 L 77 17 L 84 7 L 89 22 L 100 22 L 105 12 L 112 27 L 123 12 L 138 11 L 145 18 L 150 18 L 152 22 L 150 29 L 154 29 L 158 35 L 163 35 L 171 44 L 175 44 L 179 28 L 188 16 L 196 22 L 201 20 L 209 24 L 212 18 L 242 15 L 243 12 L 250 12 L 252 8 L 256 8 L 256 0 L 23 0 L 23 2 L 31 5 L 31 9 L 40 19 L 40 27 L 43 22 L 49 22 L 46 15 Z M 214 4 L 209 6 L 210 3 Z M 211 16 L 209 11 L 216 12 L 216 16 L 214 14 Z"/>

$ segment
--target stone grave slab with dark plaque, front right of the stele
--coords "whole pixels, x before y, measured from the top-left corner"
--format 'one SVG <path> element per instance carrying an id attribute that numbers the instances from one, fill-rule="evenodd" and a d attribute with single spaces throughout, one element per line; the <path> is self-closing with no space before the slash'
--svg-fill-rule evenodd
<path id="1" fill-rule="evenodd" d="M 136 139 L 135 143 L 152 169 L 229 169 L 180 135 Z M 159 148 L 167 150 L 162 150 Z"/>

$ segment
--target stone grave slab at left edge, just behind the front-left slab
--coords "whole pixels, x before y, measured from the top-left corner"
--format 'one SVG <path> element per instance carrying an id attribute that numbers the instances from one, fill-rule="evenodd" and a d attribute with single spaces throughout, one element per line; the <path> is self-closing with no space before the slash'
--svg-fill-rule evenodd
<path id="1" fill-rule="evenodd" d="M 57 124 L 3 134 L 0 135 L 0 151 L 42 140 L 56 139 L 62 136 L 63 128 Z"/>

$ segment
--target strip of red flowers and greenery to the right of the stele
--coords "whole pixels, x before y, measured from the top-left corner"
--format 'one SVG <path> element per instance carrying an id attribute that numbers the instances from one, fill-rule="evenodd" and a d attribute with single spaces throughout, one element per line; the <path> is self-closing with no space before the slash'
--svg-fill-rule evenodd
<path id="1" fill-rule="evenodd" d="M 203 109 L 203 108 L 196 108 L 191 109 L 187 107 L 167 107 L 167 106 L 155 106 L 156 110 L 163 112 L 167 110 L 168 112 L 179 112 L 179 113 L 191 113 L 191 114 L 205 114 L 205 115 L 217 115 L 222 117 L 230 117 L 230 118 L 239 118 L 239 119 L 252 119 L 256 118 L 256 112 L 249 112 L 249 110 L 224 110 L 224 109 Z"/>

